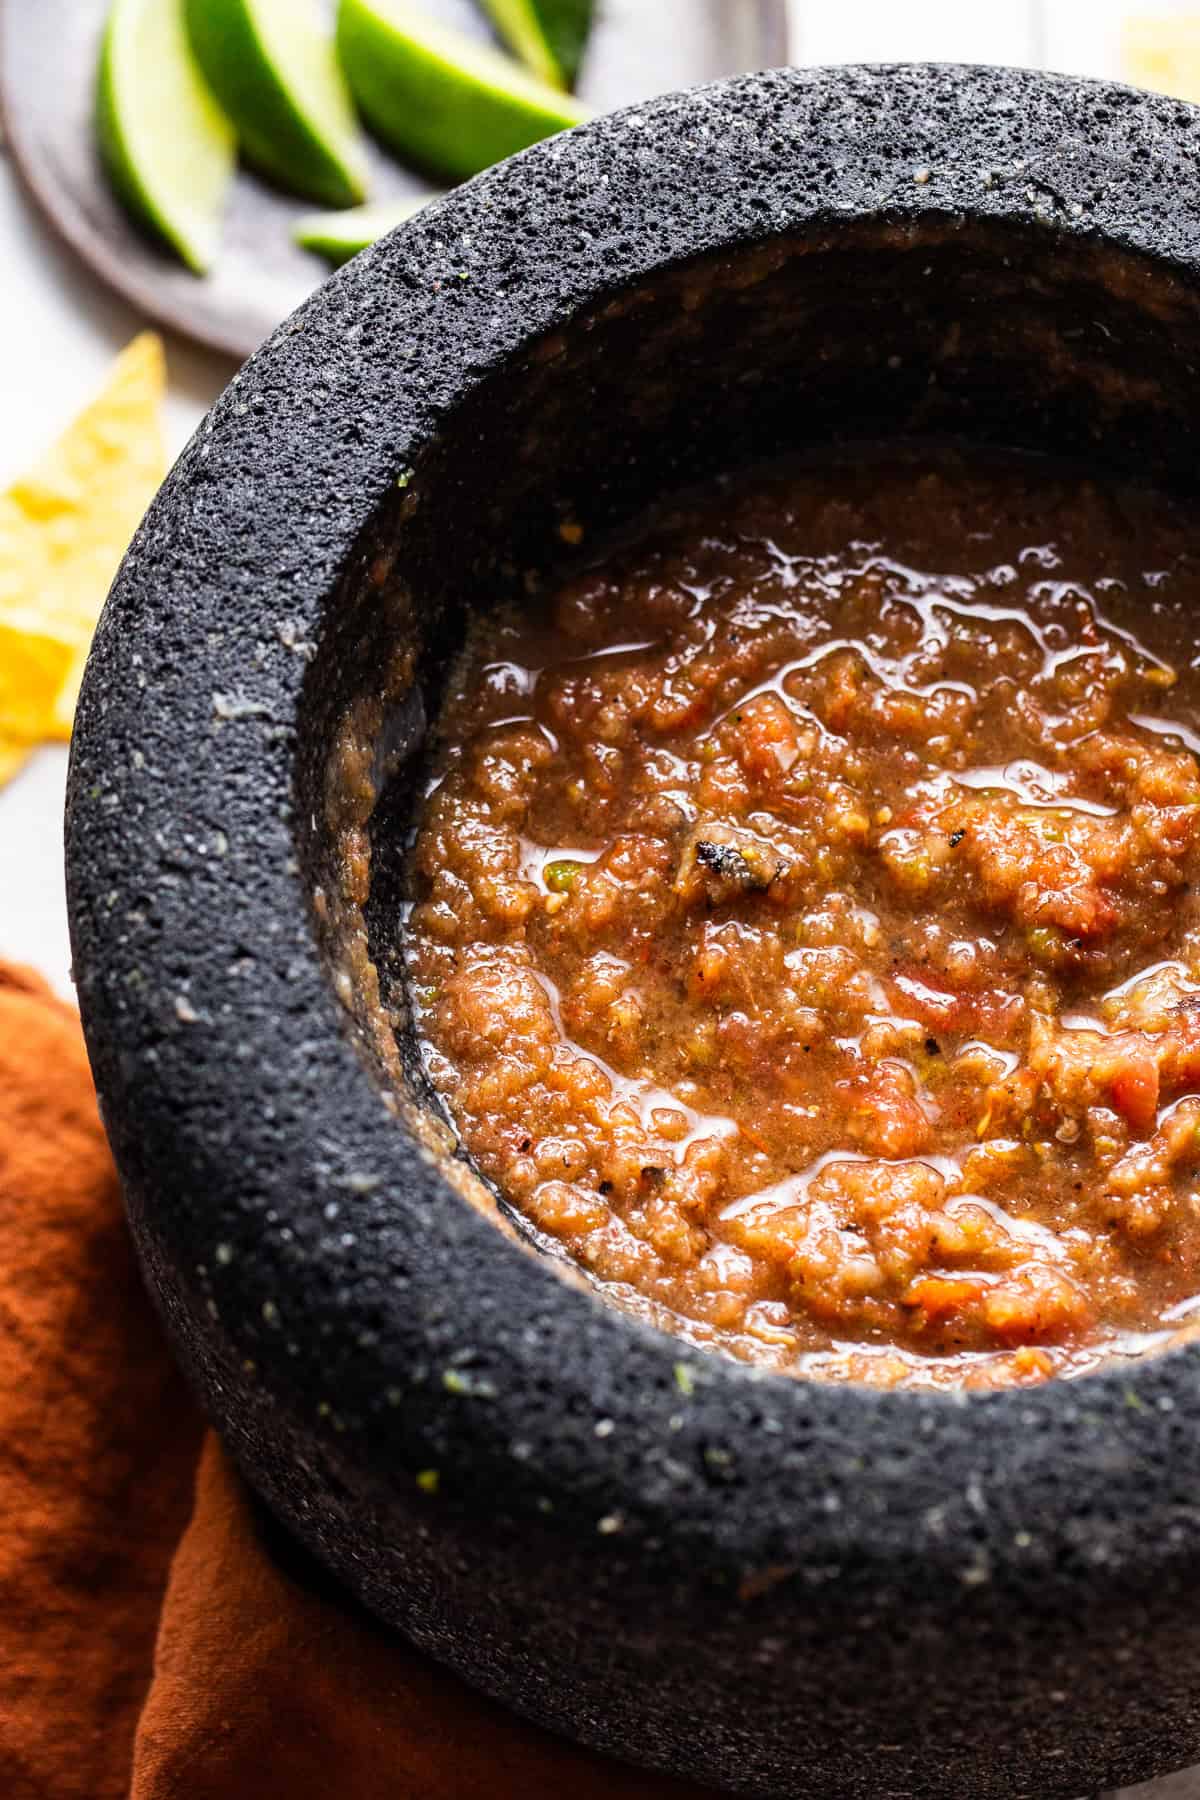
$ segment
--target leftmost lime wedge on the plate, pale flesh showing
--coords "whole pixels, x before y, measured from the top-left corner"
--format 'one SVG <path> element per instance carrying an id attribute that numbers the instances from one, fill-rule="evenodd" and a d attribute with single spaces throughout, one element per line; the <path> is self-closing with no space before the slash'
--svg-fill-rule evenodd
<path id="1" fill-rule="evenodd" d="M 113 0 L 95 90 L 117 194 L 201 275 L 234 175 L 234 131 L 196 68 L 184 0 Z"/>

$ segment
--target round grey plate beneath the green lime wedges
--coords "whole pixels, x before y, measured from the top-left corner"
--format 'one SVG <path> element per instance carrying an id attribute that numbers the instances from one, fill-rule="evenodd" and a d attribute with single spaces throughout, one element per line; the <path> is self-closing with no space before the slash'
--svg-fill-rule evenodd
<path id="1" fill-rule="evenodd" d="M 479 34 L 471 0 L 426 0 Z M 291 243 L 318 211 L 239 173 L 216 268 L 196 277 L 160 250 L 113 198 L 95 149 L 92 95 L 108 0 L 4 0 L 0 108 L 31 194 L 68 245 L 128 301 L 185 337 L 248 356 L 329 268 Z M 579 92 L 597 110 L 786 59 L 786 0 L 601 0 Z M 371 198 L 435 193 L 371 146 Z"/>

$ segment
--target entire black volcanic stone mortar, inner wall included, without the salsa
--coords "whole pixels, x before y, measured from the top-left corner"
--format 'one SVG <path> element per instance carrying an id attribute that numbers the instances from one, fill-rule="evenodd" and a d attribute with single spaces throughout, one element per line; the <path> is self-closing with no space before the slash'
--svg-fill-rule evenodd
<path id="1" fill-rule="evenodd" d="M 567 517 L 892 430 L 1195 490 L 1200 112 L 1011 70 L 754 76 L 542 144 L 362 256 L 216 405 L 115 585 L 72 752 L 76 974 L 176 1352 L 367 1606 L 734 1793 L 1047 1800 L 1200 1755 L 1200 1346 L 955 1397 L 633 1321 L 421 1147 L 414 1058 L 385 1073 L 315 902 L 335 731 L 398 643 L 372 947 L 466 601 L 561 560 Z"/>

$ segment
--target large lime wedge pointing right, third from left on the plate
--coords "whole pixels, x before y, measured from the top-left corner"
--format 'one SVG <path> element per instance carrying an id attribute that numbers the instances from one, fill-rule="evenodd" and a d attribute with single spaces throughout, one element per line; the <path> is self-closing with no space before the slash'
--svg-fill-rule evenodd
<path id="1" fill-rule="evenodd" d="M 587 119 L 570 95 L 408 0 L 342 0 L 338 50 L 367 122 L 446 175 L 477 175 Z"/>

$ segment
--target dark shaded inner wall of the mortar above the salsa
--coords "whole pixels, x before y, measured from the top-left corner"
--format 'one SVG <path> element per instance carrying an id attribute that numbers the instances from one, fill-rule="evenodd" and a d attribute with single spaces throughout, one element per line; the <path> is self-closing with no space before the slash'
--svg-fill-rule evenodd
<path id="1" fill-rule="evenodd" d="M 531 605 L 569 572 L 563 524 L 581 535 L 578 562 L 707 475 L 860 439 L 1020 448 L 1193 491 L 1198 353 L 1200 308 L 1173 274 L 1103 243 L 1054 241 L 1036 218 L 766 236 L 633 284 L 524 346 L 401 472 L 306 689 L 304 862 L 313 889 L 335 898 L 326 956 L 380 1078 L 443 1118 L 408 1021 L 398 929 L 428 733 L 468 616 Z M 362 907 L 336 904 L 353 812 L 338 787 L 347 720 L 378 749 Z M 347 958 L 347 936 L 365 959 Z"/>

